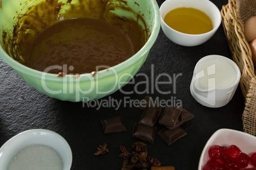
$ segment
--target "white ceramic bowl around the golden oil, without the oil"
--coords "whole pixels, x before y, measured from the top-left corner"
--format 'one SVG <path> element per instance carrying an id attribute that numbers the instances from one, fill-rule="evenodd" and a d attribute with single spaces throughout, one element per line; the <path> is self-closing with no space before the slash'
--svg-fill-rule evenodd
<path id="1" fill-rule="evenodd" d="M 164 17 L 169 11 L 182 7 L 196 8 L 197 10 L 206 13 L 213 22 L 213 30 L 204 34 L 184 34 L 169 27 L 164 22 Z M 217 6 L 209 0 L 166 0 L 160 6 L 160 15 L 161 27 L 164 34 L 166 34 L 171 41 L 180 44 L 181 46 L 197 46 L 208 41 L 208 39 L 215 34 L 222 21 L 220 10 L 218 10 Z"/>

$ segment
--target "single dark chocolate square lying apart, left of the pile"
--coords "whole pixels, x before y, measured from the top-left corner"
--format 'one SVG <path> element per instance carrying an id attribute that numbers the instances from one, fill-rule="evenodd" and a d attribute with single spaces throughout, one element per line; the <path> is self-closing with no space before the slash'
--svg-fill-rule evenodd
<path id="1" fill-rule="evenodd" d="M 101 124 L 103 126 L 103 131 L 105 134 L 126 131 L 122 117 L 113 117 L 110 119 L 106 119 L 104 121 L 101 121 Z"/>

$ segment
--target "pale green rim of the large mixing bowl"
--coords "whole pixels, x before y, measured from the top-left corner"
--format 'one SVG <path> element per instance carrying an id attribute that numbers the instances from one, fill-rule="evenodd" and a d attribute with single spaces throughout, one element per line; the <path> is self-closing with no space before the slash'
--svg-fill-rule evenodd
<path id="1" fill-rule="evenodd" d="M 118 72 L 118 70 L 124 70 L 123 68 L 130 67 L 132 63 L 138 62 L 145 53 L 148 53 L 150 51 L 150 48 L 152 48 L 153 44 L 155 43 L 157 36 L 159 34 L 160 30 L 160 11 L 159 6 L 156 2 L 156 0 L 150 0 L 150 3 L 152 4 L 153 11 L 154 11 L 154 24 L 152 25 L 152 34 L 150 34 L 148 40 L 144 44 L 144 46 L 139 49 L 137 53 L 135 53 L 133 56 L 128 58 L 122 63 L 118 63 L 117 65 L 114 65 L 113 67 L 110 67 L 111 69 Z M 50 74 L 41 72 L 39 70 L 31 69 L 25 65 L 22 65 L 21 63 L 17 62 L 13 58 L 11 58 L 2 48 L 0 45 L 0 58 L 3 58 L 4 62 L 8 63 L 15 71 L 18 70 L 18 72 L 22 72 L 22 74 L 31 75 L 32 77 L 36 77 L 38 79 L 41 79 L 42 75 L 45 74 L 46 80 L 53 81 L 53 82 L 65 82 L 67 79 L 64 77 L 76 77 L 76 75 L 65 75 L 64 77 L 57 77 L 56 74 Z M 97 72 L 97 74 L 101 74 L 101 77 L 108 77 L 112 73 L 108 71 L 109 69 L 100 70 Z M 92 73 L 85 73 L 80 74 L 79 77 L 89 77 L 90 79 L 96 79 L 96 76 L 92 75 Z M 69 79 L 69 82 L 75 82 L 76 79 Z"/>

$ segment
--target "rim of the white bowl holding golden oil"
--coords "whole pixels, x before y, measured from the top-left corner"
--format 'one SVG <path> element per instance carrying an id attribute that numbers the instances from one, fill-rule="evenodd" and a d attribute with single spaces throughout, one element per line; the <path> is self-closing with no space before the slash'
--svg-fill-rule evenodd
<path id="1" fill-rule="evenodd" d="M 211 2 L 210 0 L 206 0 L 206 1 L 200 1 L 200 3 L 202 3 L 202 2 L 209 3 L 209 4 L 211 4 L 211 6 L 213 6 L 213 8 L 215 8 L 215 10 L 218 11 L 218 13 L 217 13 L 218 22 L 215 25 L 215 27 L 213 27 L 212 30 L 210 30 L 209 32 L 203 33 L 203 34 L 186 34 L 186 33 L 180 32 L 178 30 L 174 30 L 169 25 L 167 25 L 166 22 L 164 22 L 164 18 L 162 17 L 162 7 L 164 6 L 164 4 L 169 3 L 169 1 L 171 1 L 171 0 L 164 1 L 164 3 L 162 3 L 161 6 L 160 6 L 160 20 L 161 20 L 161 23 L 164 24 L 169 30 L 172 30 L 173 32 L 175 32 L 177 34 L 181 34 L 183 36 L 190 36 L 190 37 L 204 36 L 204 35 L 212 34 L 213 32 L 215 32 L 218 29 L 218 27 L 220 27 L 220 24 L 222 23 L 222 15 L 220 13 L 220 10 L 218 10 L 218 7 L 213 2 Z"/>

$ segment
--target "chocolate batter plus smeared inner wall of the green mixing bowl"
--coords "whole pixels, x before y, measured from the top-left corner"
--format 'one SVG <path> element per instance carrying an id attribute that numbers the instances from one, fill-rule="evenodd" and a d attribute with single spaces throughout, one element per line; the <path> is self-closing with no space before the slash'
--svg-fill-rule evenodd
<path id="1" fill-rule="evenodd" d="M 118 16 L 113 13 L 115 8 L 137 17 Z M 82 74 L 97 71 L 96 66 L 117 65 L 138 52 L 149 37 L 141 15 L 132 11 L 124 0 L 41 1 L 15 20 L 12 33 L 3 30 L 1 45 L 6 53 L 17 62 L 41 71 L 52 65 L 67 65 L 66 72 L 51 70 L 55 74 Z M 85 31 L 89 27 L 90 31 Z M 97 37 L 101 38 L 98 42 Z"/>

